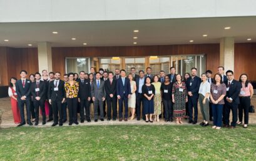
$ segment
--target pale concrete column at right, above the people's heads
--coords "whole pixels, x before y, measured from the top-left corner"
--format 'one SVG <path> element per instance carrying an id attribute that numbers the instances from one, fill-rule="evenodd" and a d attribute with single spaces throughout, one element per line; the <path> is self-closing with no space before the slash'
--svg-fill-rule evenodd
<path id="1" fill-rule="evenodd" d="M 234 71 L 234 48 L 233 37 L 223 37 L 220 39 L 220 66 L 225 67 L 225 71 Z"/>

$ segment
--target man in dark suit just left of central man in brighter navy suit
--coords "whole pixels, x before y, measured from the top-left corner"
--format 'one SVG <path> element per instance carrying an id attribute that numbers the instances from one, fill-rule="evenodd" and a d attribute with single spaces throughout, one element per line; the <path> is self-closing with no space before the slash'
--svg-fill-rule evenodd
<path id="1" fill-rule="evenodd" d="M 116 80 L 113 79 L 113 72 L 108 73 L 108 80 L 105 81 L 106 104 L 108 105 L 108 120 L 111 119 L 111 110 L 113 110 L 113 120 L 117 117 L 116 100 Z"/>

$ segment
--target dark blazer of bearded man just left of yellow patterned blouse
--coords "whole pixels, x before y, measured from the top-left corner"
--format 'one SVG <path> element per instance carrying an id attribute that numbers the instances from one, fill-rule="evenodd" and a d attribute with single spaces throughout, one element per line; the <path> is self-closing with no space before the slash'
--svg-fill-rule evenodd
<path id="1" fill-rule="evenodd" d="M 48 99 L 51 99 L 51 101 L 54 100 L 63 100 L 64 97 L 66 97 L 66 92 L 64 89 L 64 81 L 59 80 L 58 90 L 54 90 L 54 81 L 49 82 L 48 85 Z"/>

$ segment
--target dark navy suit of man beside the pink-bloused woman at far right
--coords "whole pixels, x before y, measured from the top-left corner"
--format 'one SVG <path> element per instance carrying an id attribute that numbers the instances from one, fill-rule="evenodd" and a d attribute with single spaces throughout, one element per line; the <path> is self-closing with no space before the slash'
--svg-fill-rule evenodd
<path id="1" fill-rule="evenodd" d="M 227 94 L 225 95 L 225 106 L 223 109 L 224 124 L 229 125 L 230 110 L 232 110 L 232 122 L 231 125 L 235 127 L 237 125 L 237 108 L 240 104 L 239 94 L 241 90 L 241 83 L 237 80 L 232 80 L 232 83 L 228 86 L 228 80 L 225 81 L 227 87 Z M 227 101 L 227 98 L 232 98 L 232 103 Z"/>

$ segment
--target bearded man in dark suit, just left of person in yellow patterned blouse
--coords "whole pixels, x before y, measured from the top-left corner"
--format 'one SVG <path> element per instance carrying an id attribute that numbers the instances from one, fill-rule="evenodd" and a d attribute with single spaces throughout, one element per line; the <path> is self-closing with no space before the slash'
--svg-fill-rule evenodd
<path id="1" fill-rule="evenodd" d="M 48 100 L 49 104 L 53 107 L 53 125 L 59 126 L 63 125 L 63 115 L 62 115 L 62 104 L 65 101 L 66 92 L 64 90 L 64 81 L 60 80 L 60 72 L 56 72 L 54 77 L 55 79 L 49 82 L 48 87 Z M 59 116 L 58 116 L 59 114 Z M 59 120 L 58 120 L 59 119 Z"/>

